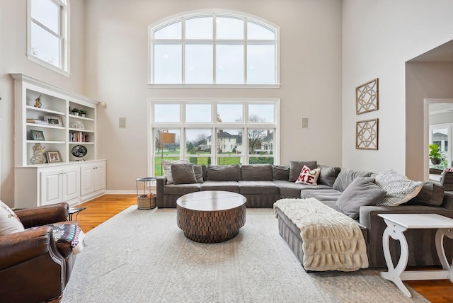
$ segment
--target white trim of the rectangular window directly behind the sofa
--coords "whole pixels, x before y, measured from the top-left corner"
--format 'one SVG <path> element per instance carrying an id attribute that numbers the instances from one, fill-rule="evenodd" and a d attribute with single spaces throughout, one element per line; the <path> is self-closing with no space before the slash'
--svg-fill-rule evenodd
<path id="1" fill-rule="evenodd" d="M 214 119 L 212 122 L 199 122 L 199 123 L 185 123 L 185 104 L 201 104 L 201 103 L 210 103 L 212 104 L 212 117 L 217 116 L 217 103 L 274 103 L 275 104 L 275 113 L 274 119 L 275 122 L 269 123 L 251 123 L 251 122 L 241 122 L 241 123 L 226 123 L 226 122 L 217 122 Z M 280 164 L 280 98 L 147 98 L 148 103 L 148 121 L 147 121 L 147 138 L 148 138 L 148 175 L 154 176 L 154 157 L 159 156 L 159 154 L 155 154 L 155 147 L 154 147 L 154 130 L 168 130 L 168 129 L 180 129 L 180 142 L 185 142 L 185 134 L 182 131 L 184 129 L 198 129 L 198 128 L 212 128 L 212 137 L 216 139 L 216 132 L 217 128 L 222 129 L 236 129 L 241 128 L 244 130 L 244 133 L 247 134 L 249 129 L 263 129 L 267 130 L 269 128 L 275 128 L 274 132 L 274 145 L 273 145 L 273 159 L 274 164 Z M 180 122 L 154 122 L 153 120 L 153 113 L 152 108 L 154 103 L 167 103 L 167 104 L 180 104 Z M 248 117 L 248 109 L 244 107 L 243 117 L 246 119 Z M 246 145 L 248 150 L 248 144 Z M 179 156 L 180 159 L 185 159 L 188 154 L 185 152 L 185 147 L 180 147 L 180 154 L 175 154 L 174 156 Z M 170 155 L 168 155 L 170 156 Z M 197 155 L 190 155 L 197 156 Z M 217 153 L 212 153 L 211 157 L 214 160 L 217 159 Z M 229 155 L 222 155 L 222 157 L 227 157 Z M 252 158 L 259 158 L 265 157 L 268 158 L 269 156 L 261 156 L 261 155 L 253 155 L 249 156 L 248 152 L 241 155 L 243 159 L 248 163 L 248 159 Z"/>

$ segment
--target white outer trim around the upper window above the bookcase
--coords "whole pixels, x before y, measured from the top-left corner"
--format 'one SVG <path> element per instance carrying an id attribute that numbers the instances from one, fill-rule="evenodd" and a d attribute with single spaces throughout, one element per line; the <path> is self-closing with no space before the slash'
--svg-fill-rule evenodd
<path id="1" fill-rule="evenodd" d="M 27 59 L 29 59 L 31 62 L 35 62 L 37 64 L 40 64 L 42 67 L 46 67 L 47 69 L 51 69 L 54 72 L 57 72 L 59 74 L 62 74 L 64 76 L 71 76 L 70 73 L 70 56 L 69 56 L 69 50 L 70 50 L 70 35 L 71 31 L 69 30 L 69 17 L 71 16 L 70 13 L 70 5 L 69 5 L 69 0 L 65 1 L 60 1 L 60 0 L 52 0 L 55 2 L 57 5 L 62 6 L 62 20 L 61 20 L 61 30 L 62 30 L 62 50 L 61 50 L 61 60 L 62 60 L 62 68 L 56 67 L 53 64 L 50 64 L 49 62 L 45 62 L 44 60 L 40 59 L 39 57 L 36 57 L 33 55 L 31 51 L 31 23 L 32 23 L 32 18 L 31 18 L 31 1 L 32 0 L 27 0 L 27 52 L 25 53 L 25 56 Z"/>

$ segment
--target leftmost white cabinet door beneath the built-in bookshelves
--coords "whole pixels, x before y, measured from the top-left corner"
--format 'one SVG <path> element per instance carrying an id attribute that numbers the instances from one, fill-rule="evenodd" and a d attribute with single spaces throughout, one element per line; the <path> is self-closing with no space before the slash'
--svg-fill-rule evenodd
<path id="1" fill-rule="evenodd" d="M 52 203 L 62 202 L 62 176 L 61 169 L 55 171 L 42 171 L 40 177 L 41 183 L 41 203 L 40 205 L 47 205 Z"/>

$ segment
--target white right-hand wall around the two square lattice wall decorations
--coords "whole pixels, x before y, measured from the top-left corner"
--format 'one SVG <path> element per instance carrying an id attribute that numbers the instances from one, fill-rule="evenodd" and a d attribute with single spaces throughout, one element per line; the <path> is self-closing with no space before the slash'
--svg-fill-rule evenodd
<path id="1" fill-rule="evenodd" d="M 343 0 L 343 167 L 423 169 L 405 160 L 406 136 L 420 135 L 406 128 L 405 62 L 453 39 L 452 13 L 453 1 Z M 374 78 L 379 110 L 355 115 L 355 87 Z M 355 122 L 370 118 L 379 118 L 379 150 L 355 149 Z"/>

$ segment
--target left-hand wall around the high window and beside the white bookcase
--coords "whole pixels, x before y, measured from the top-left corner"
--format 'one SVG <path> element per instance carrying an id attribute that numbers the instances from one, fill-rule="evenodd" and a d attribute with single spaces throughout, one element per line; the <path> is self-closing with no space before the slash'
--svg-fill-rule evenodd
<path id="1" fill-rule="evenodd" d="M 71 76 L 62 76 L 30 62 L 26 53 L 27 1 L 0 0 L 0 120 L 1 200 L 14 205 L 14 92 L 9 74 L 22 73 L 42 81 L 84 93 L 84 1 L 71 1 Z M 26 185 L 22 185 L 26 190 Z"/>

